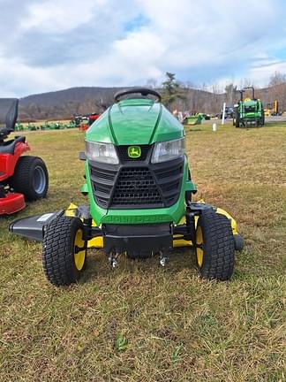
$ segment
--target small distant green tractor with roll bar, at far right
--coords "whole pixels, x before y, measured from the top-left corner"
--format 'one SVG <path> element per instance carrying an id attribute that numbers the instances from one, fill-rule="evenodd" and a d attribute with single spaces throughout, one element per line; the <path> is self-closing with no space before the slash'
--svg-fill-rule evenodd
<path id="1" fill-rule="evenodd" d="M 246 90 L 252 90 L 252 98 L 244 98 Z M 239 90 L 240 101 L 234 105 L 233 126 L 263 126 L 265 122 L 264 109 L 260 99 L 255 98 L 254 88 L 243 88 Z"/>

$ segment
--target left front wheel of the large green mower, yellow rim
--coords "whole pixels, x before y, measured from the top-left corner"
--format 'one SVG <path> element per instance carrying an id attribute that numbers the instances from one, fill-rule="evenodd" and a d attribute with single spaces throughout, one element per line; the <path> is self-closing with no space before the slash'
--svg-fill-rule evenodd
<path id="1" fill-rule="evenodd" d="M 79 218 L 62 215 L 49 224 L 42 243 L 42 266 L 51 284 L 67 286 L 78 281 L 87 260 L 87 241 L 82 240 L 82 233 Z M 80 247 L 77 246 L 79 241 Z M 79 263 L 76 263 L 76 256 L 80 256 Z"/>

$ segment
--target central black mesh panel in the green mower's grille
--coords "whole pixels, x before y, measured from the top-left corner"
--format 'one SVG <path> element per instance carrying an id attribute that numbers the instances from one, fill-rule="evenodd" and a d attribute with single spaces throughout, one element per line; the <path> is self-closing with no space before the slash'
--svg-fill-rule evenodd
<path id="1" fill-rule="evenodd" d="M 111 206 L 156 205 L 163 207 L 162 196 L 147 167 L 121 169 Z"/>

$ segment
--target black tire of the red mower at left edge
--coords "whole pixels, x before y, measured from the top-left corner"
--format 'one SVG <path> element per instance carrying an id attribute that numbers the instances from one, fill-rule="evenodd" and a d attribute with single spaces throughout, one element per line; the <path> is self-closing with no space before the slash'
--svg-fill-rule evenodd
<path id="1" fill-rule="evenodd" d="M 10 184 L 15 191 L 24 194 L 26 201 L 45 197 L 49 188 L 46 164 L 40 157 L 19 157 Z"/>

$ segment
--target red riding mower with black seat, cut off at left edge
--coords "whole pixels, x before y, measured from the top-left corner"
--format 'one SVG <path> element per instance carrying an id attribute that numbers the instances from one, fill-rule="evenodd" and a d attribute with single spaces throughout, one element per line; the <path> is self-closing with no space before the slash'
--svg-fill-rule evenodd
<path id="1" fill-rule="evenodd" d="M 0 98 L 0 215 L 11 215 L 25 208 L 25 201 L 47 195 L 49 175 L 40 157 L 21 155 L 30 148 L 26 137 L 15 136 L 19 100 Z"/>

